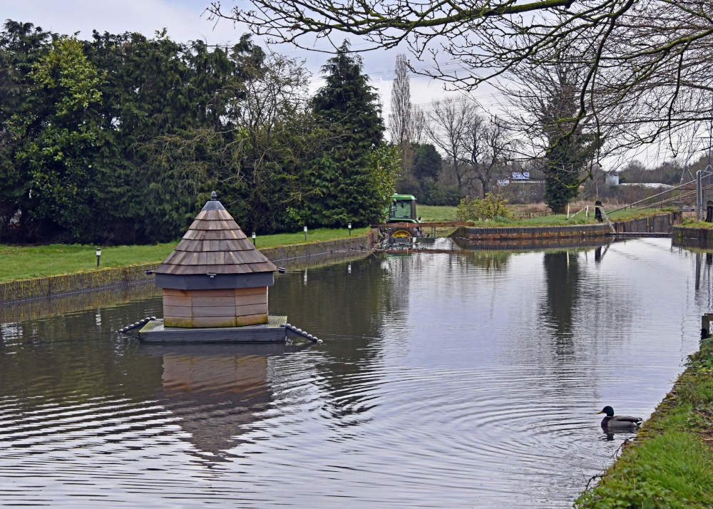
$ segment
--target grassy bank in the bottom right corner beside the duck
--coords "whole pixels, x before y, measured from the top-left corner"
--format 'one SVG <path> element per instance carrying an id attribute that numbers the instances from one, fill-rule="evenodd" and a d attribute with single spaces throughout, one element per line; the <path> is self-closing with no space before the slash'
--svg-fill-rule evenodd
<path id="1" fill-rule="evenodd" d="M 713 339 L 575 508 L 713 507 Z"/>

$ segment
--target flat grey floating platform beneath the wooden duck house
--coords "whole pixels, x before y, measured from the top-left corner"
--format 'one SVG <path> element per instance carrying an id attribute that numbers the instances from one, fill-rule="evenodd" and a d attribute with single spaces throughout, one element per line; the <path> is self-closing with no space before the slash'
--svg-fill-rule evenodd
<path id="1" fill-rule="evenodd" d="M 165 327 L 162 318 L 152 318 L 138 331 L 146 343 L 284 343 L 287 337 L 321 342 L 312 334 L 287 323 L 287 317 L 267 319 L 267 324 L 242 327 Z"/>

